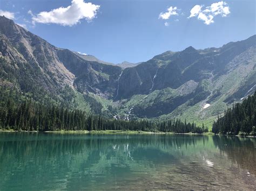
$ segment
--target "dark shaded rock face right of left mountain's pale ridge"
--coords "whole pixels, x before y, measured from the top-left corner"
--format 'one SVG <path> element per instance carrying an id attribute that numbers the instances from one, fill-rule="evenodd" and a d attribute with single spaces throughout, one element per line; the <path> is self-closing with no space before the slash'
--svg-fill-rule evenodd
<path id="1" fill-rule="evenodd" d="M 86 61 L 67 49 L 58 50 L 58 58 L 75 75 L 74 85 L 81 92 L 91 92 L 112 98 L 122 69 L 95 61 Z"/>

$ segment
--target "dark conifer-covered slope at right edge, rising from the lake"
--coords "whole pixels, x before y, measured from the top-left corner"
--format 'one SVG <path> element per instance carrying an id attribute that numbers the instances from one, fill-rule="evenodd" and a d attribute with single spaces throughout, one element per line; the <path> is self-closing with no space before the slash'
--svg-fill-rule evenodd
<path id="1" fill-rule="evenodd" d="M 213 123 L 212 132 L 227 135 L 256 136 L 256 91 L 242 103 L 233 105 Z"/>

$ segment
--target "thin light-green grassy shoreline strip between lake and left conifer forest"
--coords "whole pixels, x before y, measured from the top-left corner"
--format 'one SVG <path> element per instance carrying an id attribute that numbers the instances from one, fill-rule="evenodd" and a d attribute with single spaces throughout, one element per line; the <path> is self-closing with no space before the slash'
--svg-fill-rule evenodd
<path id="1" fill-rule="evenodd" d="M 8 130 L 8 129 L 0 129 L 0 132 L 34 132 L 34 133 L 63 133 L 63 134 L 90 134 L 90 133 L 102 133 L 102 134 L 117 134 L 117 133 L 126 133 L 126 134 L 169 134 L 169 135 L 214 135 L 212 132 L 207 132 L 207 133 L 175 133 L 175 132 L 151 132 L 151 131 L 122 131 L 122 130 L 101 130 L 101 131 L 87 131 L 87 130 L 60 130 L 60 131 L 17 131 L 17 130 Z"/>

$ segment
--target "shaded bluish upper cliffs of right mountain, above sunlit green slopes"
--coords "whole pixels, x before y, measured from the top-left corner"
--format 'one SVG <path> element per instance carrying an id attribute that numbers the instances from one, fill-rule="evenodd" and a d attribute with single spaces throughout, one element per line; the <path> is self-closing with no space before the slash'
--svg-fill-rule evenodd
<path id="1" fill-rule="evenodd" d="M 142 64 L 127 68 L 120 77 L 119 98 L 149 94 L 167 87 L 178 88 L 187 81 L 200 82 L 228 71 L 235 56 L 255 47 L 255 36 L 230 43 L 221 48 L 196 50 L 188 47 L 181 52 L 165 52 Z"/>

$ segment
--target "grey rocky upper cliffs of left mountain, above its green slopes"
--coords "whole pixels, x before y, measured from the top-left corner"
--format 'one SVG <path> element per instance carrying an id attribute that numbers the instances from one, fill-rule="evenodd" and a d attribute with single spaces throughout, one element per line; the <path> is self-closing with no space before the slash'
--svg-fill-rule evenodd
<path id="1" fill-rule="evenodd" d="M 108 98 L 114 94 L 120 67 L 88 61 L 68 49 L 57 48 L 5 17 L 0 17 L 0 33 L 2 56 L 39 68 L 41 78 L 52 82 L 42 84 L 46 89 L 68 85 L 81 93 L 90 91 Z"/>

